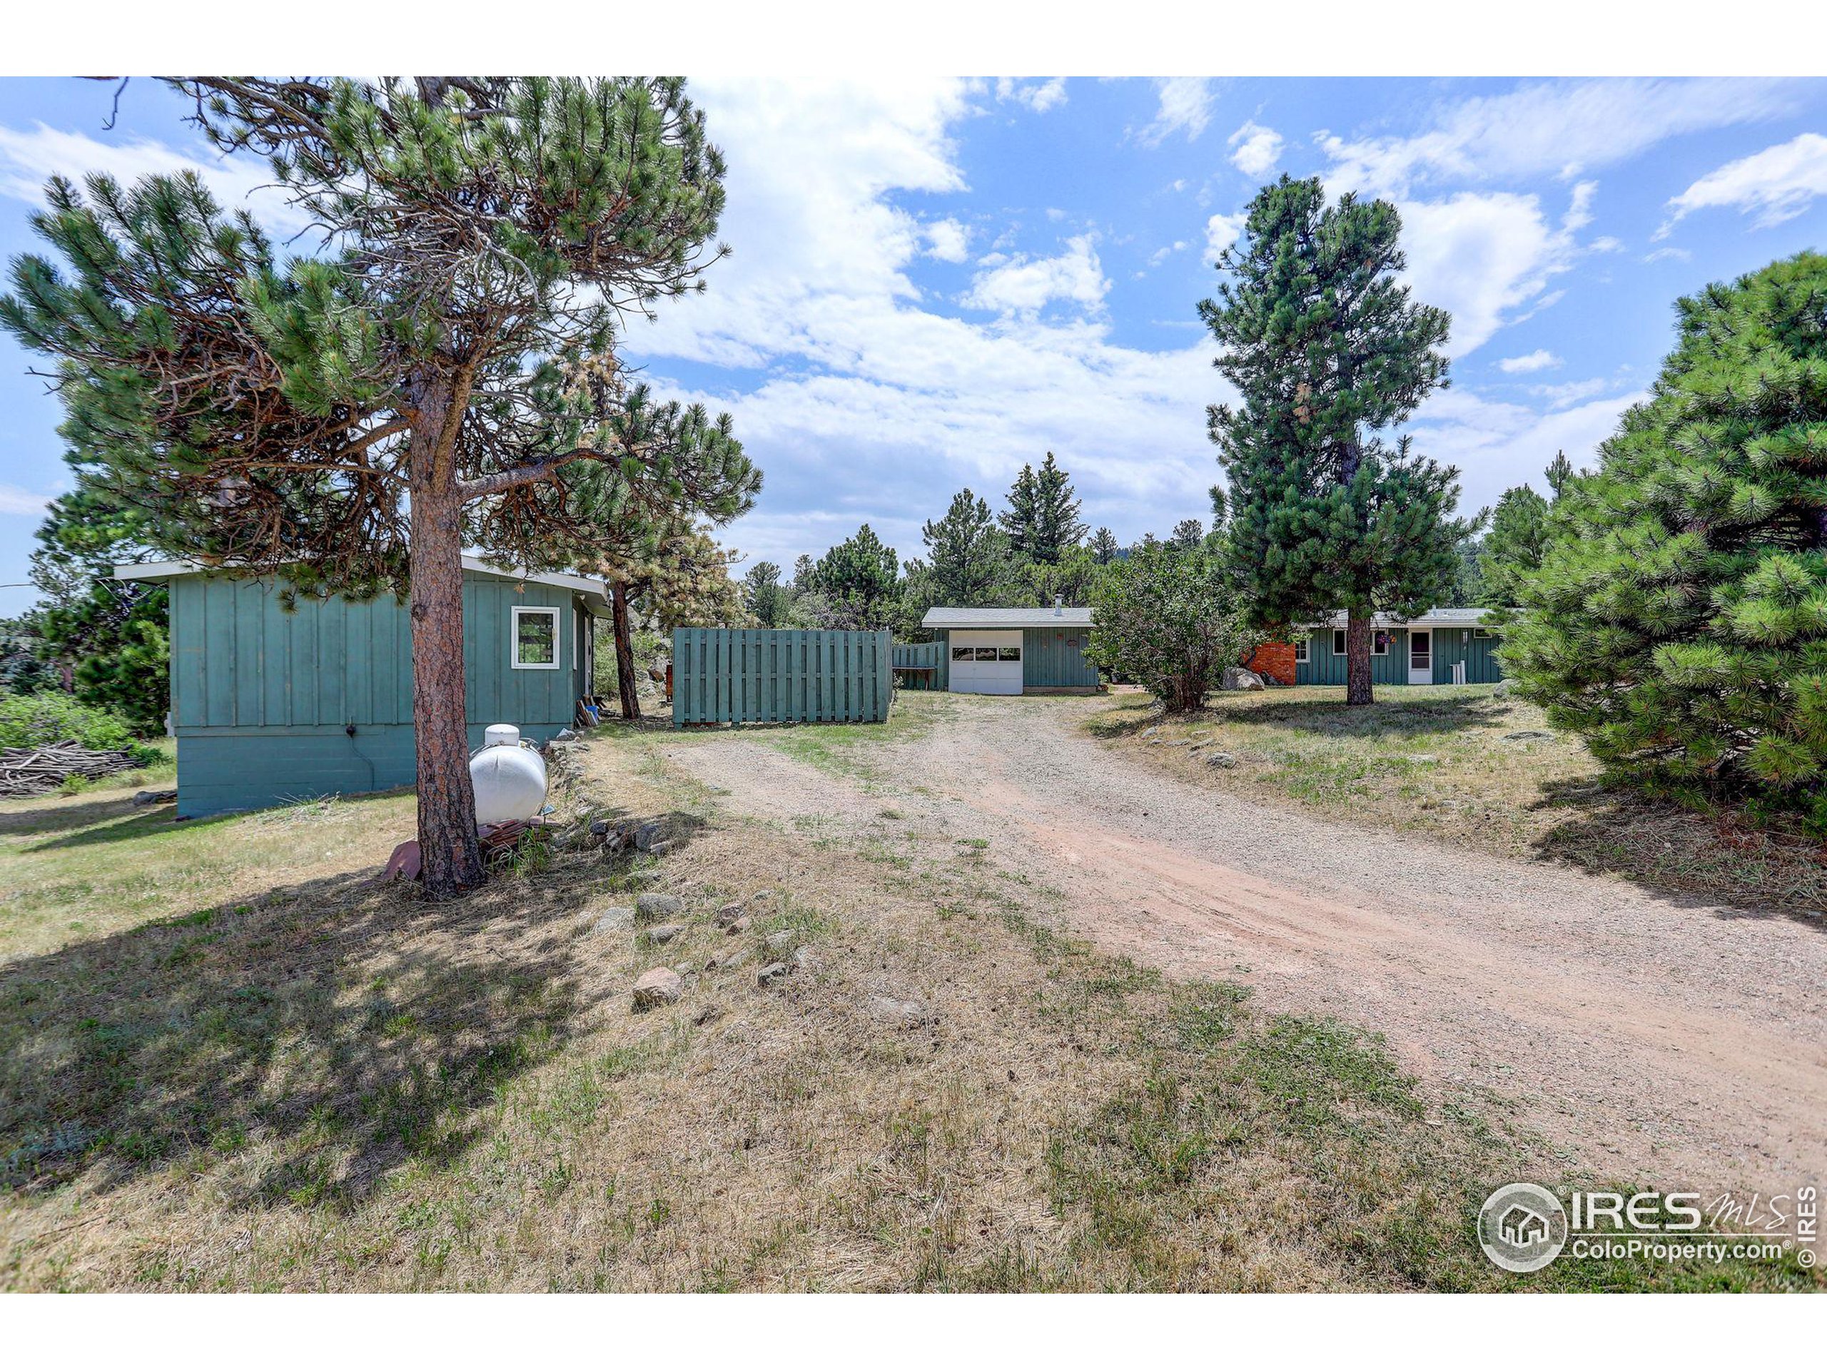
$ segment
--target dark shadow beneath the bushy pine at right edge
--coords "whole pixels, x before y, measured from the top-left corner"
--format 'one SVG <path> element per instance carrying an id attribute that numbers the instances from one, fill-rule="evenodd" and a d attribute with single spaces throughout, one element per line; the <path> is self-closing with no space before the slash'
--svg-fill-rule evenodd
<path id="1" fill-rule="evenodd" d="M 1535 842 L 1540 857 L 1617 875 L 1723 919 L 1794 917 L 1827 932 L 1827 848 L 1792 833 L 1699 815 L 1597 780 L 1549 782 L 1535 809 L 1564 818 Z"/>

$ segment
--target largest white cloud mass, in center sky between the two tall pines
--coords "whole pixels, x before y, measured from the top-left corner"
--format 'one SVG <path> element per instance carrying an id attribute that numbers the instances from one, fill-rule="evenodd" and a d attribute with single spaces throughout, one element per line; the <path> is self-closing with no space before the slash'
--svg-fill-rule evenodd
<path id="1" fill-rule="evenodd" d="M 915 555 L 952 491 L 999 493 L 1047 449 L 1085 517 L 1125 539 L 1204 508 L 1204 407 L 1228 393 L 1211 343 L 1114 345 L 1089 236 L 1040 261 L 990 245 L 974 292 L 994 316 L 923 307 L 906 270 L 926 225 L 890 201 L 965 188 L 950 144 L 965 84 L 702 80 L 692 95 L 729 157 L 722 234 L 736 252 L 628 343 L 656 387 L 729 409 L 764 469 L 734 546 L 789 564 L 866 519 Z M 1041 296 L 1069 309 L 1043 314 Z M 680 384 L 672 358 L 764 376 Z"/>

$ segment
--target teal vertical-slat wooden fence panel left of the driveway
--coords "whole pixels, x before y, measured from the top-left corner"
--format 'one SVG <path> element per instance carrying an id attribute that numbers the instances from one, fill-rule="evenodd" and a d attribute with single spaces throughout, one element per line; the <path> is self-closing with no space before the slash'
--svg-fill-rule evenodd
<path id="1" fill-rule="evenodd" d="M 881 723 L 886 632 L 674 628 L 672 723 Z"/>

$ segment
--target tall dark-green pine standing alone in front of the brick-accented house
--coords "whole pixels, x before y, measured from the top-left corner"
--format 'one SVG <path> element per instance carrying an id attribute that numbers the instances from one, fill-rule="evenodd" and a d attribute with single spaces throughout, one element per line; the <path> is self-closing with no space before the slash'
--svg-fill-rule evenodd
<path id="1" fill-rule="evenodd" d="M 1283 177 L 1250 203 L 1199 314 L 1241 406 L 1211 406 L 1231 539 L 1259 625 L 1346 616 L 1346 690 L 1372 701 L 1370 617 L 1431 608 L 1452 585 L 1458 471 L 1368 437 L 1438 385 L 1449 318 L 1398 283 L 1401 219 L 1387 201 Z"/>

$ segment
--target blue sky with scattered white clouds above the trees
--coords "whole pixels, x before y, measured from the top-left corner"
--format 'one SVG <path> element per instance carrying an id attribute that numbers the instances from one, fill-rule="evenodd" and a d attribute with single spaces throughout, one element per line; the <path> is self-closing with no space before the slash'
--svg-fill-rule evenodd
<path id="1" fill-rule="evenodd" d="M 1204 407 L 1226 398 L 1195 305 L 1281 172 L 1398 203 L 1416 296 L 1452 311 L 1452 387 L 1407 426 L 1463 504 L 1575 462 L 1670 345 L 1672 303 L 1822 247 L 1827 82 L 692 82 L 729 159 L 705 296 L 639 325 L 661 391 L 729 409 L 766 471 L 727 541 L 791 564 L 871 522 L 903 557 L 952 491 L 999 497 L 1054 451 L 1120 539 L 1206 515 Z M 51 172 L 201 164 L 296 227 L 258 163 L 210 155 L 183 106 L 0 82 L 0 252 Z M 68 488 L 55 400 L 0 340 L 0 581 L 26 579 Z M 0 590 L 0 614 L 33 592 Z"/>

